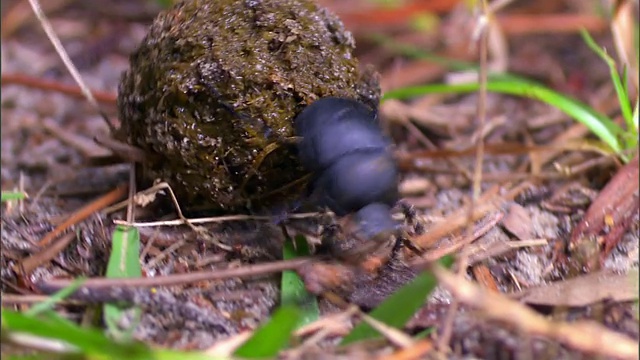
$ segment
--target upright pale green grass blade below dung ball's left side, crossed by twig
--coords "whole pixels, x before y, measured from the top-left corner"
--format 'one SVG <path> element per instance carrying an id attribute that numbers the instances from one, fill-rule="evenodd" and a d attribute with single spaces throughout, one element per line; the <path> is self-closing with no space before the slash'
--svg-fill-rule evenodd
<path id="1" fill-rule="evenodd" d="M 135 227 L 117 226 L 112 236 L 111 256 L 107 265 L 108 278 L 139 278 L 142 276 L 140 266 L 140 233 Z M 116 339 L 130 339 L 141 316 L 137 307 L 122 304 L 104 304 L 104 321 L 107 331 Z M 131 314 L 132 326 L 121 329 L 119 323 L 123 316 Z"/>

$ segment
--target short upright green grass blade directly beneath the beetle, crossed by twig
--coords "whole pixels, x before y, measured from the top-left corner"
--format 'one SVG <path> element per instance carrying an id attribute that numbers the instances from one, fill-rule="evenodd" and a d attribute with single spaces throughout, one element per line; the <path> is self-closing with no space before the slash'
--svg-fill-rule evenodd
<path id="1" fill-rule="evenodd" d="M 309 255 L 309 243 L 304 236 L 296 236 L 293 241 L 295 244 L 291 241 L 286 241 L 284 244 L 282 253 L 285 260 Z M 296 328 L 312 323 L 320 317 L 317 298 L 307 291 L 300 276 L 292 270 L 282 272 L 280 304 L 300 308 L 302 314 Z"/>

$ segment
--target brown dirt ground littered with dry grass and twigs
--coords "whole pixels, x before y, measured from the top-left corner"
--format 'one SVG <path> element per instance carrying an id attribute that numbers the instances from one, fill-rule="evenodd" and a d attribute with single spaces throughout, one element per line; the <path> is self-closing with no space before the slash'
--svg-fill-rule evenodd
<path id="1" fill-rule="evenodd" d="M 99 99 L 103 110 L 117 121 L 114 100 L 120 74 L 159 7 L 151 1 L 112 3 L 101 8 L 80 1 L 51 2 L 47 13 L 84 80 L 104 95 Z M 370 24 L 358 20 L 338 2 L 323 3 L 345 14 L 359 45 L 358 56 L 379 69 L 385 90 L 451 76 L 441 66 L 376 43 L 367 37 L 376 30 L 367 26 Z M 572 7 L 574 2 L 567 2 L 563 9 L 555 9 L 548 1 L 540 2 L 540 8 L 520 3 L 508 8 L 505 16 L 525 13 L 543 17 L 545 11 L 578 11 Z M 43 249 L 38 243 L 69 214 L 126 184 L 129 176 L 126 164 L 86 164 L 92 156 L 108 154 L 92 140 L 96 135 L 107 135 L 108 129 L 84 99 L 61 90 L 75 84 L 30 11 L 26 2 L 2 3 L 2 189 L 24 189 L 30 195 L 23 204 L 4 205 L 2 210 L 2 301 L 3 306 L 15 308 L 51 291 L 47 284 L 52 279 L 104 275 L 113 219 L 122 219 L 122 210 L 94 212 L 58 237 L 66 238 L 67 243 L 57 250 Z M 441 14 L 437 30 L 431 32 L 391 25 L 376 31 L 434 53 L 474 60 L 471 19 L 468 11 L 455 7 Z M 593 33 L 599 44 L 613 49 L 606 26 Z M 510 72 L 534 78 L 598 111 L 620 117 L 608 68 L 577 31 L 514 31 L 505 39 Z M 55 86 L 48 87 L 49 83 Z M 539 314 L 569 323 L 594 321 L 639 341 L 637 287 L 635 295 L 629 295 L 628 284 L 607 287 L 620 274 L 634 271 L 637 282 L 637 158 L 635 168 L 624 167 L 612 157 L 576 150 L 579 147 L 567 144 L 587 144 L 586 139 L 591 138 L 583 126 L 535 100 L 493 93 L 486 98 L 487 124 L 480 135 L 477 104 L 477 94 L 430 95 L 410 102 L 390 100 L 381 108 L 402 167 L 402 203 L 414 210 L 406 221 L 411 239 L 426 251 L 428 259 L 460 255 L 464 248 L 468 280 L 490 291 L 517 296 Z M 473 226 L 465 230 L 471 194 L 465 173 L 473 173 L 475 162 L 474 148 L 469 145 L 480 136 L 485 143 L 484 195 L 474 204 Z M 626 174 L 624 179 L 617 177 L 621 173 Z M 618 181 L 615 189 L 605 193 L 605 186 L 614 180 Z M 604 201 L 606 208 L 628 211 L 616 215 L 598 234 L 581 236 L 576 229 L 585 226 L 582 223 L 589 220 L 585 217 L 591 216 L 589 206 L 596 201 Z M 398 219 L 405 217 L 402 206 L 396 212 Z M 140 220 L 160 217 L 171 219 L 175 214 L 159 215 L 153 206 L 139 211 Z M 326 221 L 326 216 L 292 220 L 288 230 L 291 234 L 303 229 L 317 233 L 318 224 Z M 275 221 L 203 226 L 206 236 L 186 226 L 141 228 L 144 276 L 189 274 L 281 259 L 284 235 Z M 319 242 L 318 237 L 308 239 Z M 231 250 L 220 249 L 214 240 Z M 463 243 L 467 245 L 463 247 Z M 339 246 L 358 246 L 353 241 L 345 244 Z M 17 269 L 28 258 L 30 271 L 21 273 Z M 371 309 L 416 275 L 410 265 L 417 260 L 411 251 L 402 249 L 379 272 L 349 270 L 344 265 L 347 270 L 335 271 L 349 274 L 349 284 L 332 290 L 349 303 Z M 326 266 L 335 265 L 330 263 Z M 307 281 L 317 280 L 315 274 L 301 272 Z M 256 328 L 268 318 L 278 306 L 279 279 L 278 274 L 267 274 L 201 281 L 158 288 L 154 294 L 136 288 L 117 293 L 96 291 L 61 307 L 61 311 L 74 320 L 87 321 L 96 311 L 95 304 L 133 301 L 144 309 L 136 338 L 171 348 L 207 349 Z M 571 282 L 574 280 L 579 281 Z M 560 287 L 544 287 L 552 283 Z M 435 342 L 445 336 L 443 329 L 448 324 L 451 352 L 447 357 L 451 359 L 594 356 L 557 338 L 488 320 L 481 310 L 464 302 L 453 319 L 448 319 L 453 299 L 450 291 L 438 288 L 405 330 L 416 334 L 435 327 Z M 320 303 L 323 316 L 340 311 L 326 299 Z M 391 352 L 388 344 L 353 346 L 340 350 L 341 354 L 327 351 L 334 349 L 336 341 L 336 336 L 328 336 L 318 345 L 325 350 L 309 346 L 295 356 L 367 358 Z"/>

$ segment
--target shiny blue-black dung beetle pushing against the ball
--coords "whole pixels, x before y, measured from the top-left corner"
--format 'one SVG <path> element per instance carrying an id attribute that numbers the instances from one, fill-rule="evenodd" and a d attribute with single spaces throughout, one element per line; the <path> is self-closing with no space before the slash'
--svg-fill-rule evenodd
<path id="1" fill-rule="evenodd" d="M 398 168 L 376 110 L 345 98 L 324 97 L 294 119 L 300 161 L 312 173 L 311 197 L 337 216 L 355 214 L 368 239 L 398 227 Z"/>

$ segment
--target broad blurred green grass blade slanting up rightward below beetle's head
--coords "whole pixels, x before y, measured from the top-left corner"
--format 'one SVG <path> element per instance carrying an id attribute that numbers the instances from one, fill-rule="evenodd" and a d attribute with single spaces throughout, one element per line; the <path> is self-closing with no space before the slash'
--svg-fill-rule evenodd
<path id="1" fill-rule="evenodd" d="M 452 257 L 440 260 L 443 266 L 450 267 Z M 385 299 L 369 315 L 397 329 L 401 329 L 407 321 L 416 313 L 427 298 L 427 295 L 435 289 L 438 281 L 429 272 L 422 272 L 413 281 L 404 285 L 398 291 Z M 351 344 L 356 341 L 375 339 L 381 337 L 380 333 L 369 324 L 361 322 L 342 339 L 341 345 Z"/>

